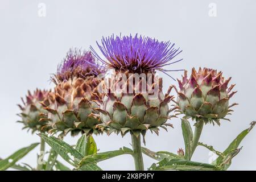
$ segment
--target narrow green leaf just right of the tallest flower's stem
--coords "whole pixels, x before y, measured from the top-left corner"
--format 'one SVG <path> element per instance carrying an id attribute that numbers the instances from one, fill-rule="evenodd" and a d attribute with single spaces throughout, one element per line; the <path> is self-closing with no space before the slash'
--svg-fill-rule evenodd
<path id="1" fill-rule="evenodd" d="M 171 152 L 166 152 L 166 151 L 159 151 L 159 152 L 154 152 L 149 150 L 148 148 L 141 147 L 142 153 L 146 154 L 152 159 L 161 161 L 163 159 L 175 159 L 175 158 L 181 158 L 176 154 L 172 154 Z"/>

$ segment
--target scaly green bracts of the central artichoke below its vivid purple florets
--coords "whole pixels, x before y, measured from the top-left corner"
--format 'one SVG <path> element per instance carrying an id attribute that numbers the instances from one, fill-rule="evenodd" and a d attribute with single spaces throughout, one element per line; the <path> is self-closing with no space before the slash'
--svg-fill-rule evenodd
<path id="1" fill-rule="evenodd" d="M 127 76 L 127 73 L 125 73 Z M 128 76 L 127 76 L 128 77 Z M 134 75 L 131 74 L 127 81 L 123 82 L 123 88 L 121 90 L 114 90 L 119 79 L 115 80 L 112 86 L 108 87 L 102 81 L 103 87 L 110 93 L 105 93 L 103 100 L 101 101 L 100 111 L 102 122 L 104 126 L 109 127 L 109 134 L 112 132 L 122 135 L 132 131 L 136 135 L 146 133 L 146 130 L 154 131 L 158 134 L 158 127 L 172 126 L 166 123 L 170 118 L 170 109 L 168 103 L 174 98 L 169 96 L 171 88 L 166 95 L 162 92 L 162 78 L 156 80 L 151 87 L 148 85 L 148 92 L 141 92 L 142 80 L 138 82 L 138 85 L 130 85 L 129 82 L 133 82 Z M 131 87 L 133 90 L 131 93 L 126 92 L 127 88 Z M 139 91 L 140 90 L 140 91 Z M 156 97 L 151 97 L 151 90 L 157 90 Z M 98 125 L 101 127 L 102 125 Z"/>

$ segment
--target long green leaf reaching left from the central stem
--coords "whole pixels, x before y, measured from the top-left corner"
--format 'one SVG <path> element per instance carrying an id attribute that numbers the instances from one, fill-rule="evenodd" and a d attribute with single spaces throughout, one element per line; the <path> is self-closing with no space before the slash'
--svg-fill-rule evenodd
<path id="1" fill-rule="evenodd" d="M 79 168 L 82 168 L 82 167 L 84 167 L 85 165 L 88 165 L 88 164 L 97 163 L 97 162 L 100 162 L 102 160 L 114 158 L 115 156 L 123 155 L 123 154 L 133 155 L 133 150 L 131 150 L 130 148 L 123 147 L 123 148 L 120 148 L 119 150 L 88 155 L 88 156 L 85 156 L 80 161 Z"/>

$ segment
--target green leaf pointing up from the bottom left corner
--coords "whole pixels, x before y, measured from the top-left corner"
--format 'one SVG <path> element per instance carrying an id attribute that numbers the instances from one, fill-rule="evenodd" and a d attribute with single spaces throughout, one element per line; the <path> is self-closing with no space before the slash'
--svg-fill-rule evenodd
<path id="1" fill-rule="evenodd" d="M 19 159 L 22 159 L 25 155 L 28 154 L 31 150 L 33 150 L 39 143 L 31 144 L 28 147 L 21 148 L 16 151 L 14 154 L 10 155 L 8 158 L 0 161 L 0 171 L 4 171 L 9 167 L 12 167 Z"/>

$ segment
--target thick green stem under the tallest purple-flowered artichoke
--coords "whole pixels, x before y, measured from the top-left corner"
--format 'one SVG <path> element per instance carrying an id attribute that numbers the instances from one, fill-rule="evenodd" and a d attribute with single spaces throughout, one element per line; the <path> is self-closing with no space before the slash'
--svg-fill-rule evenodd
<path id="1" fill-rule="evenodd" d="M 131 142 L 133 144 L 133 158 L 135 163 L 136 171 L 144 171 L 144 164 L 141 152 L 141 135 L 136 137 L 134 134 L 131 134 Z"/>

